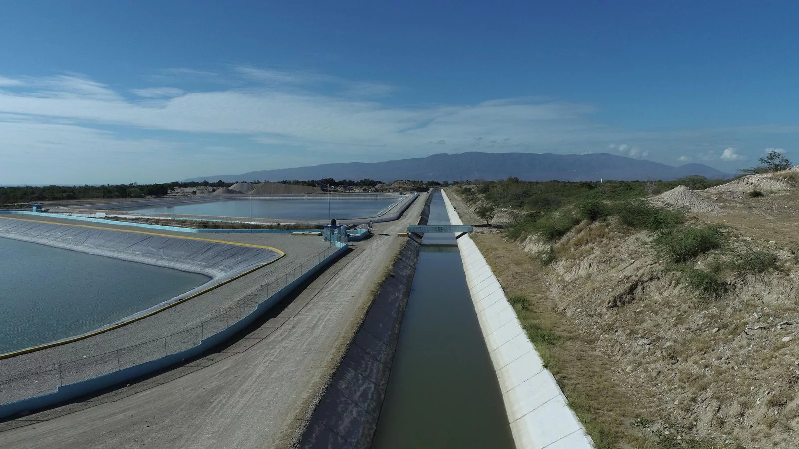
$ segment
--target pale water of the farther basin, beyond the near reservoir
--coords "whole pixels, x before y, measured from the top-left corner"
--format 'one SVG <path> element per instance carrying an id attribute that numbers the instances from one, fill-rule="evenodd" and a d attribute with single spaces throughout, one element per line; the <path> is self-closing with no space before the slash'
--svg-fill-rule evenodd
<path id="1" fill-rule="evenodd" d="M 202 201 L 162 205 L 155 207 L 125 209 L 137 213 L 179 213 L 217 217 L 280 218 L 296 220 L 328 220 L 374 217 L 394 205 L 400 198 L 374 197 L 346 199 L 332 197 L 308 197 L 292 199 L 227 198 L 218 201 Z"/>

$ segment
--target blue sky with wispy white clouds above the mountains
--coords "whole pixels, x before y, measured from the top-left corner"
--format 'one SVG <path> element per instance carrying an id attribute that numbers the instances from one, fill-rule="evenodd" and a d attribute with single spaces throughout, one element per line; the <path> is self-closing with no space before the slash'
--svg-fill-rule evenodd
<path id="1" fill-rule="evenodd" d="M 799 158 L 796 2 L 426 3 L 4 2 L 0 185 L 475 150 Z"/>

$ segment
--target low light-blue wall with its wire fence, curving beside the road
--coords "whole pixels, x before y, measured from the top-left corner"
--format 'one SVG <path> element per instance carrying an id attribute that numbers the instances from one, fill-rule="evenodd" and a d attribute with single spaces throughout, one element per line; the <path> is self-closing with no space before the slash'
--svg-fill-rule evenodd
<path id="1" fill-rule="evenodd" d="M 126 348 L 85 357 L 11 379 L 0 379 L 0 419 L 88 395 L 198 356 L 263 316 L 297 286 L 348 251 L 336 242 L 294 264 L 241 304 L 197 326 Z M 14 395 L 21 396 L 14 398 Z M 8 400 L 6 398 L 11 397 Z"/>

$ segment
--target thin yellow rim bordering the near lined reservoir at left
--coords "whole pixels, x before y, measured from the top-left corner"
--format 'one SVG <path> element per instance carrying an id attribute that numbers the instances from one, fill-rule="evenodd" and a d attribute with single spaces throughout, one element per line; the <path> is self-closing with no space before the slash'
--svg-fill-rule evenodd
<path id="1" fill-rule="evenodd" d="M 39 223 L 63 224 L 63 223 L 58 223 L 58 222 L 54 222 L 54 221 L 29 220 L 29 219 L 25 219 L 25 218 L 11 218 L 11 217 L 2 217 L 2 218 L 9 218 L 10 220 L 21 220 L 21 221 L 37 221 Z M 65 225 L 65 226 L 78 226 L 80 228 L 105 229 L 105 230 L 108 230 L 108 231 L 133 232 L 133 233 L 145 234 L 145 235 L 149 235 L 149 236 L 173 237 L 173 236 L 169 236 L 169 235 L 166 235 L 166 234 L 156 234 L 156 233 L 153 233 L 153 232 L 125 231 L 125 230 L 122 230 L 122 229 L 100 228 L 100 227 L 97 227 L 97 226 L 88 226 L 88 225 L 85 225 L 85 224 L 63 224 L 63 225 Z M 221 286 L 223 286 L 225 284 L 229 284 L 229 283 L 233 282 L 234 280 L 239 279 L 242 276 L 247 276 L 248 274 L 250 274 L 252 272 L 260 270 L 260 268 L 264 268 L 268 264 L 272 264 L 273 262 L 276 262 L 276 260 L 280 260 L 283 256 L 286 255 L 286 253 L 280 251 L 280 249 L 272 248 L 272 247 L 269 247 L 269 246 L 259 246 L 259 245 L 256 245 L 256 244 L 237 244 L 237 243 L 232 243 L 232 242 L 226 242 L 226 241 L 223 241 L 223 240 L 209 240 L 209 239 L 201 239 L 201 238 L 197 238 L 197 237 L 188 237 L 188 236 L 181 236 L 181 237 L 174 237 L 174 238 L 182 238 L 182 239 L 185 239 L 185 240 L 202 240 L 202 241 L 209 241 L 209 242 L 221 243 L 221 244 L 235 244 L 235 245 L 238 245 L 238 246 L 248 246 L 248 247 L 251 247 L 251 248 L 266 248 L 266 249 L 271 249 L 272 251 L 278 252 L 280 254 L 280 256 L 278 256 L 274 260 L 269 260 L 267 263 L 261 264 L 261 265 L 257 266 L 256 268 L 252 268 L 252 269 L 250 269 L 250 270 L 248 270 L 246 272 L 243 272 L 240 275 L 235 276 L 235 277 L 233 277 L 233 278 L 231 278 L 229 280 L 225 280 L 224 282 L 220 282 L 219 284 L 212 285 L 211 287 L 206 288 L 205 290 L 203 290 L 201 292 L 197 292 L 197 293 L 193 294 L 192 296 L 187 296 L 187 297 L 183 298 L 182 300 L 177 300 L 177 301 L 175 301 L 172 304 L 167 304 L 164 307 L 158 308 L 156 310 L 153 310 L 153 312 L 149 312 L 149 313 L 147 313 L 145 315 L 137 316 L 136 318 L 133 318 L 131 320 L 127 320 L 127 321 L 124 321 L 122 323 L 114 324 L 113 326 L 109 326 L 108 328 L 103 328 L 103 329 L 100 329 L 98 331 L 90 332 L 90 333 L 82 335 L 82 336 L 76 336 L 76 337 L 72 337 L 72 338 L 67 339 L 67 340 L 56 341 L 54 343 L 48 343 L 48 344 L 42 344 L 42 345 L 39 345 L 39 346 L 34 346 L 33 348 L 26 348 L 26 349 L 21 349 L 19 351 L 15 351 L 15 352 L 8 352 L 6 354 L 0 354 L 0 360 L 10 359 L 11 357 L 15 357 L 15 356 L 22 356 L 22 354 L 30 354 L 30 352 L 42 351 L 42 349 L 54 348 L 56 346 L 61 346 L 62 344 L 70 344 L 70 343 L 74 343 L 74 342 L 79 341 L 79 340 L 85 340 L 85 339 L 87 339 L 89 337 L 98 336 L 98 335 L 100 335 L 102 333 L 113 331 L 113 329 L 121 328 L 122 326 L 127 326 L 128 324 L 135 323 L 138 320 L 144 320 L 145 318 L 148 318 L 149 316 L 153 316 L 153 315 L 155 315 L 157 313 L 163 312 L 163 311 L 165 311 L 168 308 L 173 308 L 177 304 L 183 304 L 183 303 L 185 303 L 188 300 L 196 298 L 197 296 L 204 295 L 205 293 L 211 292 L 212 290 L 216 290 L 217 288 L 220 288 Z M 122 349 L 124 349 L 124 348 L 122 348 Z"/>

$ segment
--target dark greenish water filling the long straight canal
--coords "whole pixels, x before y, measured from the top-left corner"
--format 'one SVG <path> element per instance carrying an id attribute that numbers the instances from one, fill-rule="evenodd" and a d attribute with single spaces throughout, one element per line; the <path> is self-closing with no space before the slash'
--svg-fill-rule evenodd
<path id="1" fill-rule="evenodd" d="M 449 224 L 440 193 L 429 224 Z M 372 449 L 512 449 L 452 234 L 426 234 Z"/>

